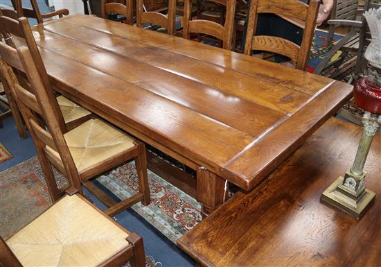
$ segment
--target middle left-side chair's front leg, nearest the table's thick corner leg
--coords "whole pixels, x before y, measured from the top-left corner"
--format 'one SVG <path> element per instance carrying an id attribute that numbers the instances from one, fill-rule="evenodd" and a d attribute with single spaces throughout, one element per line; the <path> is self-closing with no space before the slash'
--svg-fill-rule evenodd
<path id="1" fill-rule="evenodd" d="M 135 141 L 138 155 L 135 157 L 136 171 L 139 179 L 139 191 L 143 194 L 141 204 L 147 206 L 150 204 L 150 187 L 148 186 L 147 176 L 147 155 L 145 154 L 145 145 L 141 141 Z"/>

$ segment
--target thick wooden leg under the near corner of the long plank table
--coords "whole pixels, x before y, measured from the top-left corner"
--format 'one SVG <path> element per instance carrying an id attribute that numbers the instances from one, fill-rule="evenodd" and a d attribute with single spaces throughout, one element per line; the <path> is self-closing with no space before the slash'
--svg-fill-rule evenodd
<path id="1" fill-rule="evenodd" d="M 202 203 L 202 216 L 208 216 L 224 203 L 225 180 L 204 167 L 197 170 L 197 200 Z"/>

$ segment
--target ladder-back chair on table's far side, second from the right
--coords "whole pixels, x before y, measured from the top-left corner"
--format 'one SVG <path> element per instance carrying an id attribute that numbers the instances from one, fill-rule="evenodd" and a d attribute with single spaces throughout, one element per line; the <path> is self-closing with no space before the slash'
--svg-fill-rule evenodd
<path id="1" fill-rule="evenodd" d="M 206 19 L 191 20 L 192 0 L 184 0 L 184 25 L 183 37 L 190 38 L 190 33 L 202 33 L 211 35 L 218 40 L 222 40 L 222 48 L 231 50 L 231 42 L 233 38 L 234 13 L 236 12 L 236 0 L 211 0 L 226 6 L 226 18 L 224 26 L 215 21 Z"/>

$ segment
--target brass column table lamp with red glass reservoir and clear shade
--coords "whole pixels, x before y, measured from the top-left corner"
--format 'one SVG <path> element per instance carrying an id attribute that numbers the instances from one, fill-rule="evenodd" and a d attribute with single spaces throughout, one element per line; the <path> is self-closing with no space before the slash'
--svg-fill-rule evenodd
<path id="1" fill-rule="evenodd" d="M 365 58 L 375 67 L 374 76 L 355 83 L 355 103 L 365 110 L 362 123 L 364 132 L 357 148 L 355 162 L 344 177 L 339 177 L 321 195 L 321 201 L 360 218 L 375 198 L 375 193 L 365 188 L 364 165 L 371 143 L 381 125 L 381 8 L 365 12 L 371 29 L 372 42 L 366 49 Z M 381 160 L 380 160 L 381 164 Z"/>

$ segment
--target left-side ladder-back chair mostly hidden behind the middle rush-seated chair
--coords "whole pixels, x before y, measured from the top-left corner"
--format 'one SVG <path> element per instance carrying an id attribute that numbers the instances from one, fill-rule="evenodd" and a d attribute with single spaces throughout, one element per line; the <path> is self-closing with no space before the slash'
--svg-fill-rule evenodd
<path id="1" fill-rule="evenodd" d="M 3 11 L 3 10 L 1 10 Z M 31 53 L 33 55 L 36 55 L 35 60 L 37 60 L 37 64 L 40 67 L 41 71 L 44 73 L 46 72 L 44 69 L 44 63 L 42 62 L 41 58 L 39 57 L 39 52 L 37 49 L 37 44 L 35 43 L 35 39 L 33 37 L 33 33 L 31 31 L 26 31 L 26 34 L 24 34 L 23 31 L 20 31 L 19 21 L 12 19 L 10 17 L 6 17 L 1 15 L 0 11 L 0 33 L 3 35 L 4 39 L 6 40 L 6 44 L 9 46 L 12 46 L 13 48 L 16 47 L 15 41 L 16 38 L 19 37 L 21 39 L 21 42 L 26 42 L 28 46 L 30 47 Z M 28 21 L 25 21 L 26 23 Z M 17 71 L 17 70 L 16 70 Z M 17 71 L 17 78 L 21 82 L 21 84 L 24 87 L 30 87 L 30 83 L 26 80 L 25 75 L 19 73 Z M 48 83 L 48 79 L 44 80 L 44 83 Z M 8 89 L 7 83 L 3 83 L 6 91 L 8 91 L 10 97 L 12 97 L 12 93 Z M 73 103 L 69 99 L 65 98 L 64 96 L 57 96 L 57 102 L 60 107 L 60 110 L 63 115 L 63 121 L 60 121 L 60 124 L 62 124 L 61 128 L 64 132 L 66 132 L 69 129 L 75 128 L 78 126 L 78 124 L 87 121 L 91 117 L 94 117 L 91 112 L 88 110 L 85 110 L 85 108 L 81 107 L 80 105 L 77 105 L 76 103 Z M 12 106 L 13 107 L 13 106 Z M 14 105 L 13 107 L 15 110 L 18 110 L 17 105 Z M 22 122 L 22 121 L 21 121 Z"/>

